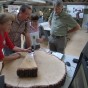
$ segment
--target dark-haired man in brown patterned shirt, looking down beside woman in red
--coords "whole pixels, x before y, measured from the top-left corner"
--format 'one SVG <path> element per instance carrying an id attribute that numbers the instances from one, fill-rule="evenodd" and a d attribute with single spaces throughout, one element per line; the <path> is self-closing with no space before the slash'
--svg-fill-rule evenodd
<path id="1" fill-rule="evenodd" d="M 16 19 L 12 23 L 12 29 L 9 33 L 9 37 L 14 45 L 21 47 L 21 34 L 25 36 L 27 47 L 31 46 L 30 35 L 28 32 L 28 19 L 32 13 L 32 9 L 28 5 L 22 5 L 20 7 L 19 13 L 16 16 Z M 13 51 L 8 49 L 8 47 L 4 48 L 4 54 L 9 55 L 12 54 Z"/>

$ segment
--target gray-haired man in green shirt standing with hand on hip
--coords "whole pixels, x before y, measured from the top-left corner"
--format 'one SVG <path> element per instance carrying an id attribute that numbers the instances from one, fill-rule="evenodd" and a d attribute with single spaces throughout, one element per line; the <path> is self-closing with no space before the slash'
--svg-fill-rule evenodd
<path id="1" fill-rule="evenodd" d="M 54 2 L 54 11 L 49 17 L 51 26 L 49 48 L 51 51 L 64 53 L 67 33 L 80 29 L 79 24 L 63 10 L 63 2 Z M 70 28 L 70 30 L 68 30 Z"/>

